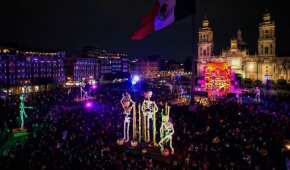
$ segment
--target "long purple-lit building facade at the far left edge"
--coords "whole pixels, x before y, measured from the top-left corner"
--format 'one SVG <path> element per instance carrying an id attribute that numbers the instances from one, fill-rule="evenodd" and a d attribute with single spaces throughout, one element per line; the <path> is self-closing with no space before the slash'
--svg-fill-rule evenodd
<path id="1" fill-rule="evenodd" d="M 59 84 L 65 80 L 65 53 L 0 49 L 0 84 Z"/>

